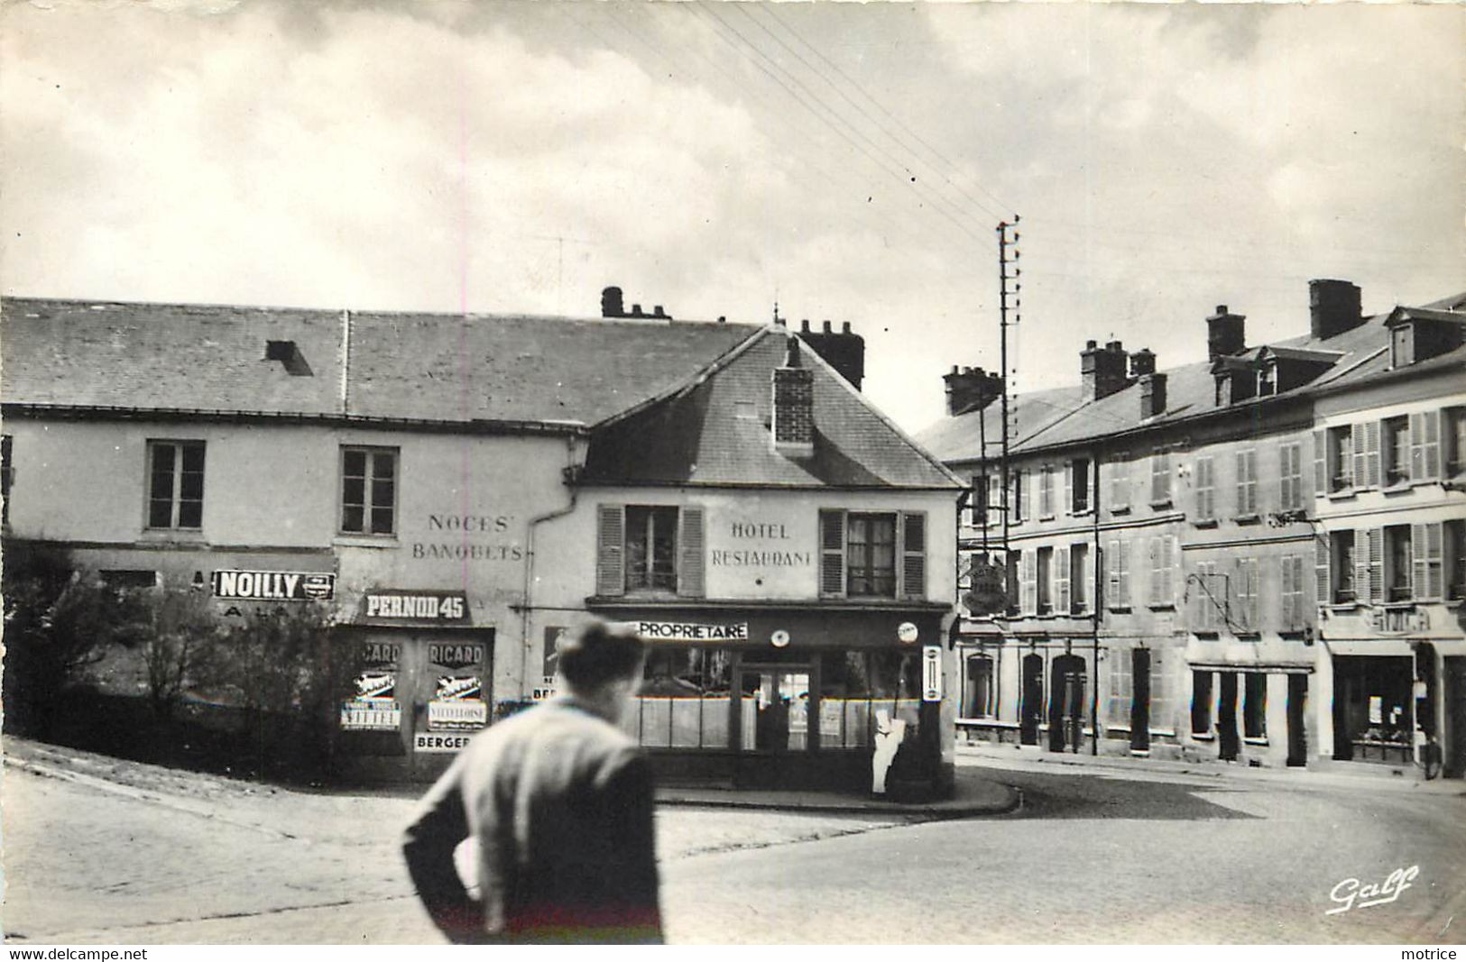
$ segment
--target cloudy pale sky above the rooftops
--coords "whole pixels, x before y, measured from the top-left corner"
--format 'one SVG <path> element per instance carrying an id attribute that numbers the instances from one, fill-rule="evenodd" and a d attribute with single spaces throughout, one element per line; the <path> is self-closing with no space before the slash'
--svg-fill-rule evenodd
<path id="1" fill-rule="evenodd" d="M 12 0 L 0 293 L 815 327 L 919 430 L 1466 290 L 1457 4 Z M 1010 269 L 1012 269 L 1010 268 Z"/>

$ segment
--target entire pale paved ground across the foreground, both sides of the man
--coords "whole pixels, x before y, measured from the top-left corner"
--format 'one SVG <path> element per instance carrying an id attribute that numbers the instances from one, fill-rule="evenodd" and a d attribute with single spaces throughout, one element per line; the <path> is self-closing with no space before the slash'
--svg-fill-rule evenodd
<path id="1" fill-rule="evenodd" d="M 37 760 L 4 773 L 10 939 L 435 940 L 396 854 L 408 798 Z M 965 778 L 1020 786 L 1023 810 L 925 824 L 663 810 L 670 939 L 1454 943 L 1466 931 L 1460 795 L 973 761 Z M 1325 915 L 1338 881 L 1409 865 L 1419 876 L 1396 902 Z"/>

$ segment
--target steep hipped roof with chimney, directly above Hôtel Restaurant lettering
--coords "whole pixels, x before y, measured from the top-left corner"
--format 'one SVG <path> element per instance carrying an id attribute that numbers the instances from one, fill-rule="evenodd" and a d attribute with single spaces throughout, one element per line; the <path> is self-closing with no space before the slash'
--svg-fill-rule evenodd
<path id="1" fill-rule="evenodd" d="M 592 483 L 947 488 L 957 480 L 881 416 L 812 350 L 815 452 L 777 454 L 770 444 L 773 370 L 790 334 L 767 328 L 707 376 L 595 432 Z"/>

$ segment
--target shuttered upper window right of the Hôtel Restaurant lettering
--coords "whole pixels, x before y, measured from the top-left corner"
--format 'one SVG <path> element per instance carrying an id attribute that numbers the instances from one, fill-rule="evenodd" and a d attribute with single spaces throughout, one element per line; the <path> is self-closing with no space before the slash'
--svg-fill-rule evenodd
<path id="1" fill-rule="evenodd" d="M 925 597 L 927 515 L 919 511 L 821 511 L 819 593 L 828 597 Z"/>

